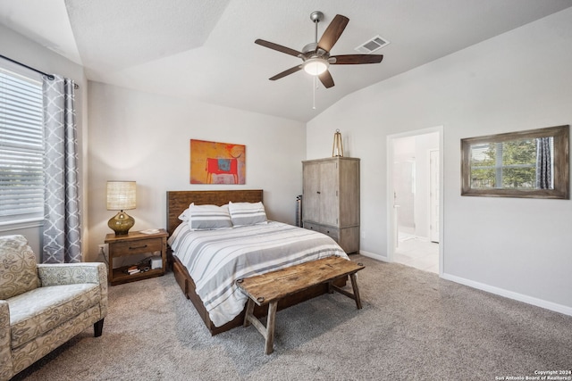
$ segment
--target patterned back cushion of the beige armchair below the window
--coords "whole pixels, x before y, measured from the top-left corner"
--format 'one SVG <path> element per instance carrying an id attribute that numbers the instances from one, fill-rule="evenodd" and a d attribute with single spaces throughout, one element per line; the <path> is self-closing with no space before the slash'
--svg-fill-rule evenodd
<path id="1" fill-rule="evenodd" d="M 36 255 L 25 236 L 0 236 L 0 299 L 33 290 L 39 286 Z"/>

